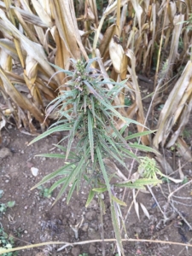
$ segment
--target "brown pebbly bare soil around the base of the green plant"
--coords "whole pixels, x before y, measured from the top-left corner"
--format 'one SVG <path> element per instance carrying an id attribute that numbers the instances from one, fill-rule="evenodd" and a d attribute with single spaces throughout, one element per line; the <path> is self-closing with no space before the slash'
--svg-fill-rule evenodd
<path id="1" fill-rule="evenodd" d="M 47 137 L 28 147 L 27 144 L 33 137 L 17 131 L 13 125 L 8 125 L 7 129 L 2 131 L 2 137 L 3 143 L 0 145 L 0 189 L 3 190 L 3 195 L 0 198 L 0 204 L 15 201 L 15 206 L 8 208 L 4 213 L 0 213 L 0 224 L 9 236 L 15 237 L 15 246 L 25 246 L 44 241 L 67 241 L 70 243 L 101 239 L 100 210 L 96 198 L 91 202 L 90 207 L 84 207 L 88 193 L 86 183 L 84 183 L 81 193 L 79 195 L 74 194 L 68 205 L 66 194 L 54 207 L 51 206 L 58 190 L 55 190 L 49 198 L 46 197 L 46 193 L 43 195 L 45 190 L 30 190 L 42 177 L 55 171 L 63 164 L 62 160 L 35 157 L 36 154 L 57 152 L 58 149 L 54 148 L 53 143 L 57 143 L 58 138 Z M 191 135 L 188 139 L 191 141 Z M 171 160 L 172 153 L 167 152 L 166 158 Z M 192 179 L 191 163 L 186 163 L 177 156 L 176 169 L 178 168 L 178 160 L 181 160 L 182 166 L 185 164 L 182 171 L 187 180 L 190 181 Z M 38 168 L 37 177 L 32 174 L 32 167 Z M 172 177 L 179 178 L 178 172 L 175 172 Z M 44 189 L 49 188 L 52 183 L 46 183 Z M 174 193 L 171 198 L 172 207 L 167 204 L 166 198 L 181 185 L 181 183 L 164 181 L 160 187 L 153 188 L 154 195 L 165 216 L 160 212 L 160 208 L 157 207 L 151 194 L 139 193 L 137 201 L 142 202 L 148 209 L 150 218 L 148 219 L 140 208 L 140 219 L 138 219 L 134 207 L 131 207 L 131 212 L 125 221 L 125 227 L 129 238 L 177 241 L 186 243 L 186 247 L 129 241 L 124 243 L 126 256 L 192 255 L 192 247 L 187 246 L 192 241 L 192 230 L 189 228 L 192 225 L 192 184 L 189 183 Z M 118 191 L 118 197 L 121 198 L 122 195 L 123 191 Z M 107 213 L 103 216 L 104 238 L 114 238 L 108 196 L 104 193 L 103 197 L 107 206 Z M 124 214 L 129 209 L 131 201 L 131 190 L 127 190 L 125 195 L 127 207 L 122 209 Z M 167 218 L 166 222 L 165 218 Z M 79 238 L 76 239 L 72 227 L 79 224 L 82 219 L 83 224 L 79 229 Z M 58 245 L 37 247 L 20 251 L 18 255 L 43 256 L 49 255 L 49 253 L 72 256 L 79 256 L 80 254 L 84 256 L 102 255 L 102 243 L 66 247 L 57 252 L 60 247 Z M 106 242 L 105 250 L 106 256 L 117 255 L 117 252 L 114 251 L 113 242 Z"/>

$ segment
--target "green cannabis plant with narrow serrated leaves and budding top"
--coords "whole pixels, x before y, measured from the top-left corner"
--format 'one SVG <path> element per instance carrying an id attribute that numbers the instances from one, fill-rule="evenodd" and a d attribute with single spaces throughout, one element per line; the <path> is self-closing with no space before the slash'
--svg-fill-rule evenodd
<path id="1" fill-rule="evenodd" d="M 108 162 L 114 160 L 126 168 L 125 158 L 137 159 L 132 149 L 143 148 L 146 151 L 153 151 L 153 149 L 138 143 L 127 143 L 122 136 L 123 131 L 131 122 L 137 124 L 136 121 L 123 117 L 117 111 L 117 108 L 121 108 L 120 106 L 113 106 L 115 97 L 125 87 L 126 81 L 115 83 L 110 79 L 105 79 L 100 71 L 91 67 L 93 61 L 96 59 L 85 63 L 84 61 L 72 60 L 73 71 L 61 69 L 59 71 L 67 74 L 67 81 L 61 86 L 60 95 L 50 103 L 48 108 L 48 114 L 54 111 L 58 120 L 49 127 L 48 131 L 35 138 L 32 143 L 55 131 L 68 131 L 67 136 L 61 139 L 61 142 L 67 141 L 67 148 L 61 146 L 61 142 L 55 145 L 64 154 L 40 154 L 44 157 L 62 158 L 65 165 L 44 177 L 34 188 L 59 177 L 50 187 L 49 193 L 61 186 L 55 199 L 57 201 L 69 188 L 68 203 L 73 191 L 76 189 L 79 192 L 84 179 L 90 188 L 86 206 L 89 205 L 96 193 L 108 191 L 113 227 L 117 240 L 120 241 L 118 212 L 119 205 L 125 205 L 125 203 L 116 198 L 113 187 L 140 189 L 143 184 L 151 181 L 142 179 L 137 180 L 134 184 L 130 181 L 111 183 L 116 170 L 109 170 Z M 113 89 L 109 90 L 107 84 L 113 84 Z M 120 131 L 117 128 L 118 120 L 125 124 Z M 134 136 L 146 135 L 149 132 L 144 131 L 144 133 L 138 133 Z M 75 148 L 73 148 L 73 144 L 75 144 Z M 119 242 L 120 251 L 123 252 L 123 248 Z"/>

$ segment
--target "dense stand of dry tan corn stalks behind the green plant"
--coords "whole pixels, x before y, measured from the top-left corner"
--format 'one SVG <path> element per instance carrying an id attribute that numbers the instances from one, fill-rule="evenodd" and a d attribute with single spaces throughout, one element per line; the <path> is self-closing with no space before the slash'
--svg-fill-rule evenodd
<path id="1" fill-rule="evenodd" d="M 154 108 L 169 91 L 158 119 L 148 126 L 154 137 L 144 145 L 171 148 L 177 143 L 185 160 L 189 146 L 181 137 L 192 108 L 192 2 L 137 0 L 4 0 L 0 1 L 0 131 L 15 120 L 21 132 L 44 131 L 55 115 L 49 102 L 60 92 L 71 70 L 70 59 L 98 58 L 96 68 L 127 88 L 114 105 L 125 117 L 148 126 Z M 94 65 L 94 63 L 93 63 Z M 143 111 L 138 76 L 153 79 L 148 113 Z M 106 84 L 106 86 L 113 86 Z M 68 90 L 66 88 L 66 90 Z M 47 118 L 46 118 L 47 117 Z M 123 127 L 117 120 L 117 128 Z M 137 125 L 137 131 L 143 126 Z M 159 162 L 162 162 L 158 156 Z M 165 161 L 164 164 L 166 165 Z"/>

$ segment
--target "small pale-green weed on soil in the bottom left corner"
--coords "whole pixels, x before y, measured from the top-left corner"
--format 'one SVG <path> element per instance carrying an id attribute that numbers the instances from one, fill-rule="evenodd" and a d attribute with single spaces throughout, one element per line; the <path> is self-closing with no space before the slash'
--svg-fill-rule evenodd
<path id="1" fill-rule="evenodd" d="M 3 226 L 0 224 L 0 249 L 11 249 L 15 245 L 15 241 L 12 237 L 8 236 L 7 233 L 4 232 Z M 1 250 L 0 250 L 1 254 Z M 3 256 L 15 256 L 17 252 L 14 253 L 3 253 Z"/>

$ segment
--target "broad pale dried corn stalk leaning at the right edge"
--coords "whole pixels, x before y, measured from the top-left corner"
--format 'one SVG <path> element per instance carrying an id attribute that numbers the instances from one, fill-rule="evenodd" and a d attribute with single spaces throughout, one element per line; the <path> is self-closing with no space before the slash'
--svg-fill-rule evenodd
<path id="1" fill-rule="evenodd" d="M 177 80 L 170 93 L 164 108 L 160 112 L 160 119 L 157 125 L 157 133 L 153 144 L 159 148 L 171 147 L 181 134 L 189 121 L 189 113 L 192 108 L 192 61 L 188 61 L 180 79 Z M 171 135 L 171 138 L 168 137 Z"/>

